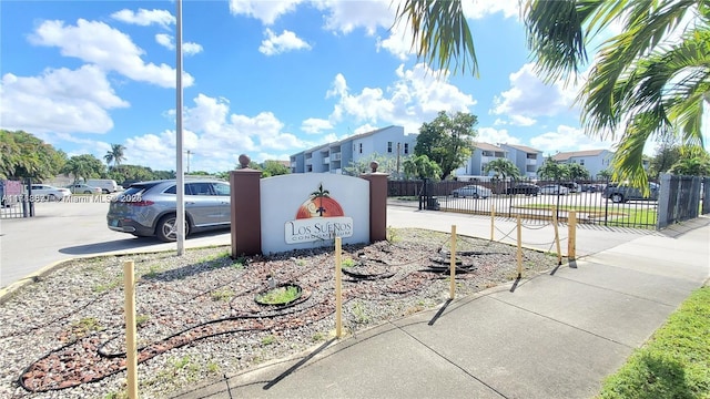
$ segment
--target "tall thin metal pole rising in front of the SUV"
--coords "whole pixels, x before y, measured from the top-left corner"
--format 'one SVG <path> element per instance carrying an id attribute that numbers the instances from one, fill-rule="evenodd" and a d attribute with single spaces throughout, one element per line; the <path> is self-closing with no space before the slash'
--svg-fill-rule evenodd
<path id="1" fill-rule="evenodd" d="M 185 175 L 182 170 L 182 0 L 175 1 L 175 53 L 178 54 L 175 60 L 175 88 L 176 88 L 176 104 L 175 104 L 175 141 L 176 141 L 176 162 L 178 171 L 176 180 L 178 186 L 175 187 L 175 195 L 178 195 L 178 214 L 175 217 L 175 237 L 178 243 L 178 256 L 185 254 Z"/>

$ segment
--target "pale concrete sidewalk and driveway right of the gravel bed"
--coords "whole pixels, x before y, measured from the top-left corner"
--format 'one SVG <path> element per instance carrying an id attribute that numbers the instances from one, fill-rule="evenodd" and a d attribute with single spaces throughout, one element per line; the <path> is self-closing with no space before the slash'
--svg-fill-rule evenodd
<path id="1" fill-rule="evenodd" d="M 480 216 L 389 207 L 387 217 L 394 227 L 450 232 L 456 225 L 459 234 L 490 235 L 490 219 Z M 507 221 L 496 225 L 515 228 Z M 523 242 L 547 250 L 550 233 L 551 226 L 538 226 Z M 707 282 L 709 243 L 708 217 L 665 232 L 580 227 L 577 259 L 552 273 L 328 341 L 180 398 L 589 398 Z"/>

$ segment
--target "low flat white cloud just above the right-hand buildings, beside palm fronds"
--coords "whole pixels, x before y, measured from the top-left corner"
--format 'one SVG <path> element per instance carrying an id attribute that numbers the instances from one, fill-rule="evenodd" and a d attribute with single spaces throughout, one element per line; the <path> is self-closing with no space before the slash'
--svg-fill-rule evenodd
<path id="1" fill-rule="evenodd" d="M 559 125 L 555 131 L 530 139 L 530 145 L 546 155 L 551 155 L 565 151 L 608 150 L 613 143 L 585 135 L 578 127 Z"/>

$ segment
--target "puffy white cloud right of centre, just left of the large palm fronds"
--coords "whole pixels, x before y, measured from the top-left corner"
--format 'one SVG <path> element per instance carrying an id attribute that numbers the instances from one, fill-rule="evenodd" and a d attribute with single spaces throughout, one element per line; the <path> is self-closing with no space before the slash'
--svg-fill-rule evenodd
<path id="1" fill-rule="evenodd" d="M 572 111 L 576 88 L 562 83 L 545 84 L 535 74 L 535 65 L 527 63 L 510 74 L 510 89 L 495 100 L 493 114 L 506 115 L 511 123 L 530 123 L 531 117 L 552 116 Z"/>

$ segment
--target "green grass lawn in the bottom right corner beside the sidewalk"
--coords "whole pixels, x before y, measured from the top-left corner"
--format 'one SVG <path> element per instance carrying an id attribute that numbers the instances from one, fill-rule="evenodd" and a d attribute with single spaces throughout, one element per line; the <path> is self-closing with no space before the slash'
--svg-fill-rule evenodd
<path id="1" fill-rule="evenodd" d="M 710 398 L 710 287 L 696 290 L 607 377 L 599 398 Z"/>

